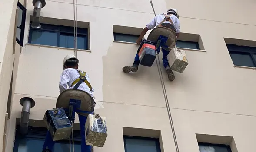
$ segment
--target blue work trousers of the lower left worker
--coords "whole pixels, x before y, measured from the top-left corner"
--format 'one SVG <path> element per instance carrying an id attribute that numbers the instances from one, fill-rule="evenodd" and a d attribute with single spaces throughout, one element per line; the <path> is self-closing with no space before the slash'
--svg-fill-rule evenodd
<path id="1" fill-rule="evenodd" d="M 81 132 L 81 152 L 91 152 L 92 146 L 85 144 L 85 123 L 86 123 L 87 117 L 78 114 L 78 118 L 80 123 L 80 132 Z M 43 144 L 43 150 L 47 148 L 52 152 L 54 152 L 54 144 L 55 144 L 55 141 L 53 141 L 52 136 L 48 131 Z"/>

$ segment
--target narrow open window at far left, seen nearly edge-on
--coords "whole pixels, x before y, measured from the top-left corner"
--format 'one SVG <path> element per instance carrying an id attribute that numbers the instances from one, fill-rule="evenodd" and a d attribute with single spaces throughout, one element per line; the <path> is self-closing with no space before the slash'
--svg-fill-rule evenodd
<path id="1" fill-rule="evenodd" d="M 16 16 L 18 18 L 16 21 L 17 22 L 16 41 L 18 44 L 20 44 L 20 46 L 23 47 L 27 9 L 20 2 L 18 2 L 17 8 L 19 10 L 18 10 L 18 16 Z"/>

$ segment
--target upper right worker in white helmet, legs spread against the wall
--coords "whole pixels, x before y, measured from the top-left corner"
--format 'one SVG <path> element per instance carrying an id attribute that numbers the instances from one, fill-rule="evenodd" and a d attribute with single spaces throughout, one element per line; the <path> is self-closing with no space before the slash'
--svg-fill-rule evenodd
<path id="1" fill-rule="evenodd" d="M 140 33 L 140 37 L 137 39 L 136 43 L 140 44 L 143 36 L 146 35 L 146 32 L 158 26 L 163 26 L 171 29 L 175 28 L 173 30 L 176 31 L 176 37 L 178 38 L 180 35 L 180 21 L 179 21 L 178 11 L 176 9 L 168 9 L 167 15 L 159 14 L 155 16 L 152 19 L 152 21 L 149 24 L 147 24 L 146 27 L 142 30 L 142 32 Z M 173 71 L 170 69 L 170 65 L 167 60 L 167 55 L 169 54 L 170 50 L 169 48 L 162 47 L 162 51 L 163 51 L 163 66 L 166 68 L 168 79 L 170 81 L 173 81 L 175 79 L 175 76 L 173 74 Z M 125 73 L 137 72 L 139 64 L 140 64 L 139 55 L 136 54 L 133 65 L 123 67 L 123 72 Z"/>

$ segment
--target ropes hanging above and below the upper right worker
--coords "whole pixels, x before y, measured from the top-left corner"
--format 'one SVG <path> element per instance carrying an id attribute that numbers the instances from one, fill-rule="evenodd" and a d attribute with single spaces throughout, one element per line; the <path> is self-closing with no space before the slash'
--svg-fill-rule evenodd
<path id="1" fill-rule="evenodd" d="M 152 0 L 150 0 L 150 4 L 151 4 L 152 9 L 154 11 L 154 14 L 156 16 L 156 12 L 155 12 Z M 162 85 L 162 89 L 163 89 L 163 96 L 164 96 L 164 100 L 165 100 L 165 103 L 166 103 L 166 108 L 167 108 L 167 113 L 168 113 L 170 125 L 171 125 L 171 128 L 172 128 L 173 140 L 174 140 L 176 152 L 180 152 L 179 146 L 178 146 L 178 142 L 177 142 L 177 139 L 176 139 L 176 134 L 175 134 L 174 126 L 173 126 L 173 118 L 172 118 L 172 114 L 171 114 L 171 110 L 170 110 L 169 101 L 168 101 L 168 98 L 167 98 L 166 88 L 165 88 L 164 81 L 163 81 L 163 73 L 162 73 L 162 70 L 161 70 L 161 67 L 160 67 L 160 59 L 159 59 L 159 55 L 158 54 L 156 54 L 156 55 L 157 55 L 156 65 L 157 65 L 158 74 L 159 74 L 161 85 Z"/>

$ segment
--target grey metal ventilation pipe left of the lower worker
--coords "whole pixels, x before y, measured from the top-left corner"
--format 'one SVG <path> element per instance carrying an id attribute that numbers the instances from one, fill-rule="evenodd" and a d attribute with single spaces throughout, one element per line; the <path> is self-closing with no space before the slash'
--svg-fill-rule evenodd
<path id="1" fill-rule="evenodd" d="M 32 98 L 24 97 L 20 99 L 20 105 L 22 105 L 20 117 L 20 133 L 23 135 L 28 133 L 30 108 L 33 108 L 35 104 L 36 103 Z"/>

